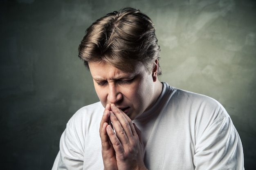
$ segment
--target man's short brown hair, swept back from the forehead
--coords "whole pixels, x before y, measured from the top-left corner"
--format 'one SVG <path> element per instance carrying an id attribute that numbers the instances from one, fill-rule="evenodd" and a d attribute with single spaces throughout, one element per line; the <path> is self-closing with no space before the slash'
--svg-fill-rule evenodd
<path id="1" fill-rule="evenodd" d="M 134 8 L 114 11 L 98 19 L 86 29 L 79 45 L 79 57 L 87 68 L 88 62 L 103 60 L 125 72 L 132 71 L 137 61 L 151 72 L 159 53 L 152 20 Z M 157 75 L 161 74 L 158 62 Z"/>

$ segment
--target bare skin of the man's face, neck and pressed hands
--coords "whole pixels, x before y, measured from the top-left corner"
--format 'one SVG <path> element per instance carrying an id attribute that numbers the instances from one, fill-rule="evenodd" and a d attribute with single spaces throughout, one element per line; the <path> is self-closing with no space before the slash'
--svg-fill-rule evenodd
<path id="1" fill-rule="evenodd" d="M 132 120 L 150 109 L 162 91 L 157 63 L 150 73 L 141 62 L 126 73 L 103 61 L 89 62 L 94 88 L 105 107 L 99 130 L 104 170 L 146 170 L 141 132 Z"/>

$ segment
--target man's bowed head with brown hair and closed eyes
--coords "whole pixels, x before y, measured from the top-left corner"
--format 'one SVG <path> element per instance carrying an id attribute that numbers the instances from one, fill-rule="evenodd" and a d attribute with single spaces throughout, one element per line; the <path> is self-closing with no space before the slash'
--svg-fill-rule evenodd
<path id="1" fill-rule="evenodd" d="M 131 119 L 150 109 L 162 91 L 160 50 L 150 18 L 137 9 L 121 9 L 86 32 L 79 57 L 90 69 L 101 104 L 115 104 Z"/>

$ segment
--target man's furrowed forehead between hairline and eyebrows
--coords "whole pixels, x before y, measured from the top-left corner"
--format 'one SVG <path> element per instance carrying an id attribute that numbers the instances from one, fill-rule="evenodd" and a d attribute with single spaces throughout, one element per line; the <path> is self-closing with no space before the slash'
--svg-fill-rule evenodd
<path id="1" fill-rule="evenodd" d="M 88 62 L 93 79 L 120 79 L 132 77 L 146 71 L 144 64 L 137 62 L 133 65 L 132 71 L 125 72 L 111 64 L 101 62 Z"/>

